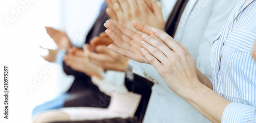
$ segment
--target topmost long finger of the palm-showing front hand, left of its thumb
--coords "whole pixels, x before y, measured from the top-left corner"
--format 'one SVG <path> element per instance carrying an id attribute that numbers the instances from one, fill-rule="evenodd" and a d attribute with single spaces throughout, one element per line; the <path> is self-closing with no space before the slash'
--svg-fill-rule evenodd
<path id="1" fill-rule="evenodd" d="M 134 40 L 134 39 L 138 39 L 141 38 L 141 35 L 135 33 L 132 29 L 130 28 L 126 28 L 125 26 L 123 26 L 122 24 L 118 23 L 115 20 L 107 20 L 106 24 L 104 24 L 106 28 L 109 28 L 113 31 L 115 30 L 119 30 L 119 32 L 121 32 L 121 34 L 123 34 L 126 37 L 129 37 L 130 39 Z M 111 26 L 114 25 L 114 26 Z M 117 29 L 115 29 L 117 28 Z M 115 32 L 118 33 L 118 32 Z M 120 35 L 121 36 L 121 35 Z"/>

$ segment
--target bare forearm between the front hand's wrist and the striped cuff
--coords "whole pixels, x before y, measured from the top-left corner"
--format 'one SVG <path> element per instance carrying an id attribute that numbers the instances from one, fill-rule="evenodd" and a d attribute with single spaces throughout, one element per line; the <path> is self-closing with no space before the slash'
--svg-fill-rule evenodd
<path id="1" fill-rule="evenodd" d="M 183 97 L 191 106 L 212 122 L 221 122 L 226 106 L 231 103 L 214 90 L 199 83 L 195 87 L 185 89 Z"/>

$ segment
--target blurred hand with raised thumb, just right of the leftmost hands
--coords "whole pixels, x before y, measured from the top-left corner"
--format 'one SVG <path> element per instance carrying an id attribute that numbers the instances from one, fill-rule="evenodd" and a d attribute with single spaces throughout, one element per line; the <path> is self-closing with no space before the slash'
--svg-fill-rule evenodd
<path id="1" fill-rule="evenodd" d="M 78 48 L 71 48 L 63 60 L 67 66 L 70 66 L 76 71 L 82 72 L 88 76 L 101 78 L 100 73 L 103 72 L 103 69 L 89 60 L 89 51 L 92 51 L 92 49 L 88 44 L 84 46 L 84 51 Z"/>

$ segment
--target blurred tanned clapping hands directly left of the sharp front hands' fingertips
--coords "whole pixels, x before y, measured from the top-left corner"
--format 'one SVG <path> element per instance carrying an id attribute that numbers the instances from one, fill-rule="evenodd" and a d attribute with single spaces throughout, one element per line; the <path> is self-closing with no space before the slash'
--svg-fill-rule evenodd
<path id="1" fill-rule="evenodd" d="M 115 70 L 124 72 L 128 66 L 130 58 L 108 49 L 108 45 L 115 44 L 105 33 L 90 41 L 96 52 L 89 51 L 90 61 L 104 70 Z"/>

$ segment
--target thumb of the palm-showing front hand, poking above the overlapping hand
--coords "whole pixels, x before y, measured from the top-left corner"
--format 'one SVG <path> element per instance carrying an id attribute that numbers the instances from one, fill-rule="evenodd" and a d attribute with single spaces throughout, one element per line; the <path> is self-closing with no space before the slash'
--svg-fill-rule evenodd
<path id="1" fill-rule="evenodd" d="M 133 23 L 133 27 L 136 30 L 138 30 L 139 32 L 142 32 L 142 33 L 147 34 L 147 35 L 153 34 L 151 26 L 148 26 L 147 24 L 142 23 L 138 20 L 134 20 L 132 23 Z"/>

